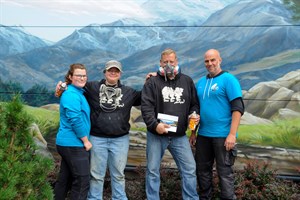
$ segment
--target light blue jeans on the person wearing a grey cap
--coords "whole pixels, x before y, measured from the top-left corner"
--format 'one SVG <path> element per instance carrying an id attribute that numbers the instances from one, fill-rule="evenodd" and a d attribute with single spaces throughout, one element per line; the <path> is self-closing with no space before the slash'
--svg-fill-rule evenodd
<path id="1" fill-rule="evenodd" d="M 124 169 L 127 164 L 129 135 L 117 138 L 90 136 L 91 181 L 88 199 L 103 199 L 106 168 L 111 177 L 112 199 L 127 200 Z"/>

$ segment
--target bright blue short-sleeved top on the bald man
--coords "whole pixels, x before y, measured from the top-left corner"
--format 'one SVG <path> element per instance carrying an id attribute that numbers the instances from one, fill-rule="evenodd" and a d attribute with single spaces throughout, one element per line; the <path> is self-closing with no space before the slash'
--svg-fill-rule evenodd
<path id="1" fill-rule="evenodd" d="M 206 137 L 227 137 L 231 126 L 230 101 L 242 97 L 238 80 L 225 72 L 216 77 L 202 77 L 196 84 L 200 101 L 198 134 Z"/>

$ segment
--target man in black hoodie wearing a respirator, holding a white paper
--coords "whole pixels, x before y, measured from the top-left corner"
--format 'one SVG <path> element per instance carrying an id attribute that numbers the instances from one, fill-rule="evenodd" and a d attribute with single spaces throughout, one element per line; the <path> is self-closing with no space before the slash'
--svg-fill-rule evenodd
<path id="1" fill-rule="evenodd" d="M 194 82 L 180 72 L 174 50 L 161 53 L 158 75 L 143 87 L 141 110 L 148 130 L 147 199 L 159 199 L 160 163 L 168 149 L 181 174 L 183 199 L 198 200 L 196 164 L 186 129 L 193 111 L 199 113 L 199 102 Z"/>

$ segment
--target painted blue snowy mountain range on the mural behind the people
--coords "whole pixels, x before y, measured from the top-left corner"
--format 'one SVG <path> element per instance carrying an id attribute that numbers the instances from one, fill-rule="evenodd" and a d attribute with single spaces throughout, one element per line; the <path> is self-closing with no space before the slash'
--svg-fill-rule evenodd
<path id="1" fill-rule="evenodd" d="M 243 89 L 299 68 L 300 28 L 280 1 L 175 2 L 146 1 L 142 6 L 156 18 L 93 22 L 55 43 L 3 25 L 1 79 L 23 80 L 25 88 L 36 83 L 53 87 L 65 73 L 63 66 L 83 62 L 90 69 L 90 79 L 97 80 L 102 76 L 99 68 L 117 59 L 125 68 L 124 83 L 140 89 L 145 75 L 157 70 L 160 52 L 166 47 L 177 50 L 183 72 L 195 81 L 205 74 L 203 53 L 219 49 L 223 68 L 239 77 Z M 246 67 L 266 57 L 276 59 L 281 53 L 294 59 L 268 68 Z M 16 66 L 26 70 L 16 70 Z"/>

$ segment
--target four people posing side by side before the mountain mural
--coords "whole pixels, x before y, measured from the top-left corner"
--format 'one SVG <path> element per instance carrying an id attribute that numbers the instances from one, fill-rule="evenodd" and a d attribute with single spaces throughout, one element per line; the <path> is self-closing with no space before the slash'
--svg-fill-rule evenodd
<path id="1" fill-rule="evenodd" d="M 214 160 L 220 197 L 235 199 L 232 165 L 244 112 L 242 92 L 237 79 L 222 71 L 217 50 L 208 50 L 204 60 L 208 75 L 195 86 L 189 76 L 181 73 L 176 52 L 166 49 L 161 53 L 158 72 L 148 74 L 142 91 L 121 84 L 122 65 L 118 61 L 107 62 L 105 79 L 92 82 L 87 82 L 82 64 L 71 65 L 65 77 L 68 89 L 60 99 L 56 144 L 62 161 L 55 199 L 65 199 L 69 187 L 71 199 L 102 199 L 107 166 L 112 199 L 127 199 L 124 169 L 129 118 L 132 106 L 139 105 L 147 126 L 148 200 L 160 199 L 160 164 L 166 149 L 180 172 L 183 199 L 212 198 Z M 186 130 L 193 112 L 200 123 L 198 132 L 192 131 L 188 138 Z M 175 131 L 159 119 L 161 114 L 177 119 Z M 190 145 L 196 145 L 195 157 Z"/>

